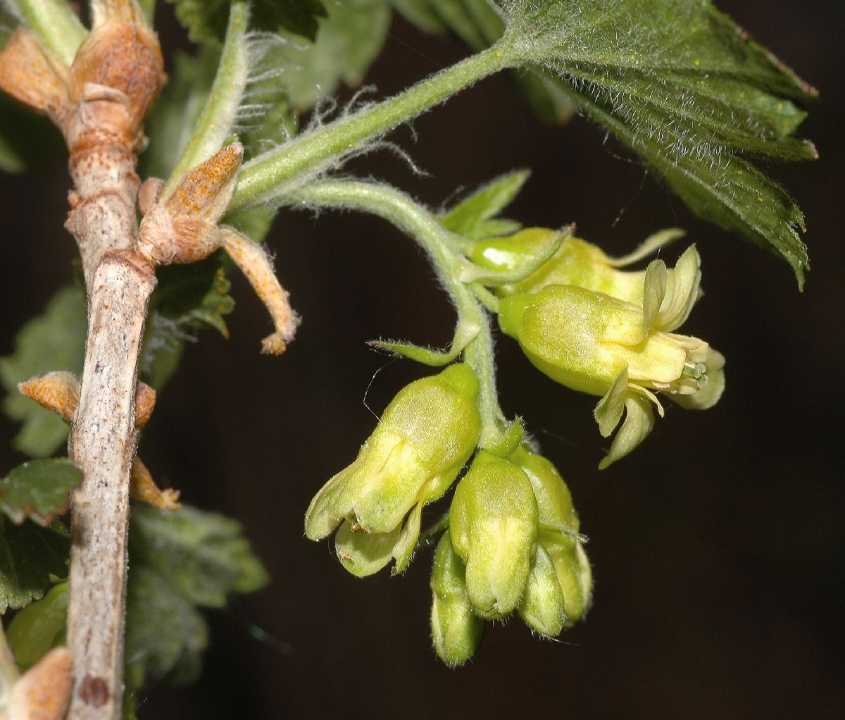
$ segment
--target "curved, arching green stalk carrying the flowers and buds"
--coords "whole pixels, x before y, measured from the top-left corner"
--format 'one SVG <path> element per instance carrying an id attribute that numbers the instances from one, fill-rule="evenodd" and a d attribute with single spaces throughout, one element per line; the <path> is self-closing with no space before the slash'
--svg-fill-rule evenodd
<path id="1" fill-rule="evenodd" d="M 496 394 L 493 337 L 488 315 L 459 276 L 466 260 L 457 253 L 449 232 L 421 205 L 386 185 L 323 180 L 297 188 L 285 196 L 290 205 L 310 205 L 361 210 L 378 215 L 412 237 L 426 251 L 458 312 L 458 323 L 476 325 L 478 334 L 464 350 L 464 357 L 478 376 L 478 407 L 482 417 L 482 448 L 497 445 L 505 427 Z"/>

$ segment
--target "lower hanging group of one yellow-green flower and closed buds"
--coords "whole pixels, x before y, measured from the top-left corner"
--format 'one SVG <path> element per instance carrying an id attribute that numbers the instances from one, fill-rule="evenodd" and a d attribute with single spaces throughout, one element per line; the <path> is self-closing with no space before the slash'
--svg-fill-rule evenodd
<path id="1" fill-rule="evenodd" d="M 401 390 L 357 459 L 312 500 L 306 535 L 317 540 L 336 529 L 338 558 L 353 575 L 391 559 L 394 573 L 405 570 L 423 506 L 450 488 L 476 449 L 477 395 L 464 363 Z M 542 635 L 558 635 L 590 597 L 569 490 L 549 461 L 520 445 L 521 430 L 513 435 L 499 454 L 477 453 L 435 554 L 432 633 L 450 665 L 472 657 L 485 620 L 517 611 Z"/>

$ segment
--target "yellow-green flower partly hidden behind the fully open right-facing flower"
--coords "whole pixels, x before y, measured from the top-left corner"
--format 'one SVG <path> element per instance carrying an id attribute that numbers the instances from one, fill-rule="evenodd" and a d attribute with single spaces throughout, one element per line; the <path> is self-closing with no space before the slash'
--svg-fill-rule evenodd
<path id="1" fill-rule="evenodd" d="M 546 227 L 528 227 L 508 237 L 490 237 L 475 243 L 469 253 L 469 258 L 476 265 L 488 270 L 507 272 L 525 265 L 528 259 L 538 257 L 543 248 L 551 243 L 558 235 L 558 230 Z M 499 294 L 513 294 L 515 292 L 540 292 L 549 285 L 575 285 L 588 290 L 603 292 L 612 297 L 618 297 L 627 303 L 642 305 L 643 283 L 646 279 L 645 270 L 619 270 L 619 268 L 636 260 L 658 247 L 659 243 L 666 243 L 683 235 L 683 231 L 669 230 L 657 233 L 646 240 L 640 249 L 624 258 L 610 258 L 597 245 L 587 243 L 578 237 L 567 237 L 558 251 L 548 262 L 538 270 L 528 275 L 524 280 L 512 285 L 496 288 Z M 668 272 L 668 287 L 674 280 L 674 270 Z M 695 286 L 695 297 L 698 286 Z"/>

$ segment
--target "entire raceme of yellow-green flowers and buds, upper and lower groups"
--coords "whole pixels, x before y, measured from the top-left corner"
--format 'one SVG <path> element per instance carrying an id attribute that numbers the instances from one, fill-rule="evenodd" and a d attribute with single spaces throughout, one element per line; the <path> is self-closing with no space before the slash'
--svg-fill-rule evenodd
<path id="1" fill-rule="evenodd" d="M 706 408 L 722 393 L 722 356 L 674 332 L 701 295 L 695 247 L 673 270 L 661 260 L 646 270 L 619 270 L 677 234 L 661 233 L 617 260 L 538 228 L 477 241 L 467 253 L 475 270 L 499 274 L 470 276 L 491 280 L 499 297 L 490 304 L 498 302 L 504 333 L 543 373 L 601 397 L 595 417 L 603 436 L 621 421 L 600 467 L 651 432 L 651 407 L 663 412 L 658 394 Z M 435 353 L 407 354 L 425 362 Z M 431 630 L 436 652 L 452 667 L 476 652 L 487 621 L 515 613 L 537 634 L 554 637 L 586 614 L 592 593 L 569 488 L 525 441 L 521 421 L 508 429 L 495 417 L 498 439 L 491 439 L 489 398 L 479 382 L 484 367 L 476 367 L 478 375 L 469 362 L 455 363 L 401 390 L 357 459 L 324 485 L 305 518 L 312 539 L 336 530 L 338 558 L 352 574 L 371 575 L 391 560 L 393 572 L 403 572 L 419 542 L 424 505 L 442 497 L 469 462 L 448 515 L 423 536 L 442 532 Z"/>

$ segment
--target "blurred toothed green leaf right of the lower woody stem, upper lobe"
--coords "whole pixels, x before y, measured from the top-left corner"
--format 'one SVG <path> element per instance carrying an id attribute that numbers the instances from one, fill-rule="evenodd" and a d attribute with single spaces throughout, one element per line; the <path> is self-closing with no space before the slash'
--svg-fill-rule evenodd
<path id="1" fill-rule="evenodd" d="M 254 592 L 268 581 L 241 524 L 184 506 L 165 514 L 140 506 L 132 513 L 130 556 L 155 568 L 191 603 L 222 608 L 233 592 Z"/>

